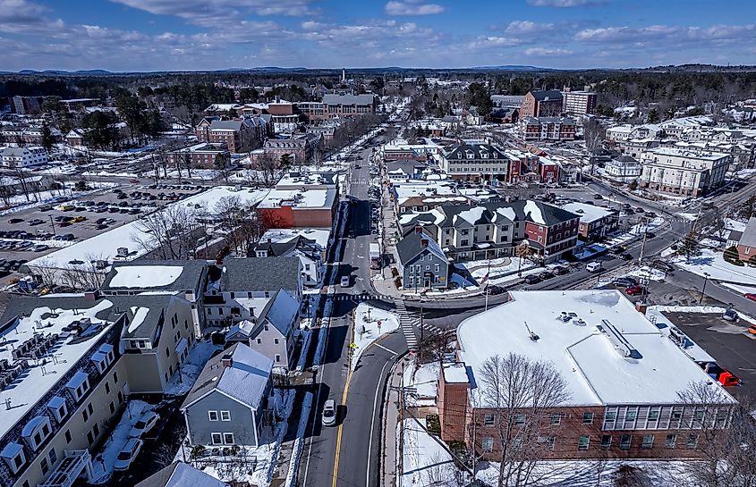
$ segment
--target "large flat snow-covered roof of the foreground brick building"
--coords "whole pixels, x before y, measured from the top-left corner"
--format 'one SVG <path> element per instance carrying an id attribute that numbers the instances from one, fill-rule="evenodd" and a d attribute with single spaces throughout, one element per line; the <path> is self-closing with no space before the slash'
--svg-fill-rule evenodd
<path id="1" fill-rule="evenodd" d="M 711 382 L 617 290 L 513 291 L 511 296 L 457 329 L 459 357 L 473 375 L 494 355 L 546 360 L 567 383 L 571 399 L 565 406 L 675 404 L 690 383 Z M 480 377 L 473 382 L 480 384 Z M 735 401 L 718 382 L 712 387 L 719 388 L 723 402 Z"/>

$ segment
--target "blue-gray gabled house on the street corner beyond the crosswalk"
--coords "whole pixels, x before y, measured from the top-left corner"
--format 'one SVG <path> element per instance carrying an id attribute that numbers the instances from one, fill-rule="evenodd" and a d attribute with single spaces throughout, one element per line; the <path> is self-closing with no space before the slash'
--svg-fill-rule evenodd
<path id="1" fill-rule="evenodd" d="M 444 289 L 448 286 L 449 261 L 437 241 L 420 227 L 399 240 L 396 253 L 404 289 Z"/>

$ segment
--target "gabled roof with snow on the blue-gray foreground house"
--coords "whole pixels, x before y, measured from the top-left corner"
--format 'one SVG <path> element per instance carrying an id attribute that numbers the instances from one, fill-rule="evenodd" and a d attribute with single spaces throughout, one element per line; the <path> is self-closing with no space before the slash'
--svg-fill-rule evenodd
<path id="1" fill-rule="evenodd" d="M 231 365 L 223 364 L 224 357 L 231 357 Z M 272 359 L 243 343 L 235 343 L 208 360 L 181 408 L 190 407 L 214 390 L 245 406 L 257 408 L 268 388 L 272 370 Z"/>

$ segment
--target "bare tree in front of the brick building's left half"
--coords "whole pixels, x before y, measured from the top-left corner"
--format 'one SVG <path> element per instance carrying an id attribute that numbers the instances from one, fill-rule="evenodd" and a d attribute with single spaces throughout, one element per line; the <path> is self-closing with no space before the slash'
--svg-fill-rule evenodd
<path id="1" fill-rule="evenodd" d="M 480 367 L 481 406 L 494 416 L 501 463 L 497 485 L 541 482 L 534 473 L 549 449 L 550 416 L 570 398 L 564 377 L 550 362 L 531 361 L 510 353 L 489 357 Z M 548 473 L 546 473 L 548 474 Z"/>

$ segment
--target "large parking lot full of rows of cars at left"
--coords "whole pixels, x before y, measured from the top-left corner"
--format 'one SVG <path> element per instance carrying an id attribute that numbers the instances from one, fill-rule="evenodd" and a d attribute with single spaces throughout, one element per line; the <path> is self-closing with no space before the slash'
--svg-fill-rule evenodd
<path id="1" fill-rule="evenodd" d="M 6 214 L 0 221 L 0 284 L 21 264 L 75 241 L 89 239 L 142 214 L 197 194 L 196 185 L 154 185 L 131 181 L 79 199 L 59 200 Z M 3 261 L 4 259 L 4 261 Z"/>

